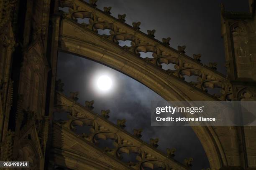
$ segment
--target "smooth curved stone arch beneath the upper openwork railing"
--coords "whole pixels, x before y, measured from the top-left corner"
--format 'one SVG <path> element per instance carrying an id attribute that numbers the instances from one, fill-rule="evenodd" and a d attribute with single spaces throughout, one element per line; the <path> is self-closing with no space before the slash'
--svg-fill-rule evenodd
<path id="1" fill-rule="evenodd" d="M 62 25 L 62 27 L 65 27 L 65 25 Z M 100 37 L 94 36 L 95 39 L 91 42 L 91 40 L 86 40 L 87 37 L 84 37 L 84 40 L 80 37 L 74 37 L 74 35 L 68 36 L 63 32 L 61 34 L 59 37 L 59 51 L 94 60 L 118 70 L 146 85 L 166 101 L 216 100 L 210 95 L 197 91 L 197 89 L 178 80 L 177 77 L 168 75 L 161 68 L 145 63 L 141 58 L 129 52 L 124 52 L 121 48 L 112 47 L 109 43 L 108 47 L 104 46 L 106 43 L 102 43 L 102 38 Z M 91 37 L 88 38 L 90 39 Z M 192 93 L 184 92 L 178 85 L 186 86 L 185 88 L 190 89 L 189 92 Z M 227 165 L 222 145 L 213 128 L 200 126 L 192 127 L 192 129 L 205 149 L 211 169 L 220 169 L 222 166 Z"/>

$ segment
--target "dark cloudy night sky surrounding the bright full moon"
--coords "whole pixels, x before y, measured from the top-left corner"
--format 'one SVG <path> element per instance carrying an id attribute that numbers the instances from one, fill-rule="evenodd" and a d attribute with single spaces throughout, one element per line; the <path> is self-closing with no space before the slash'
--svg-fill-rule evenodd
<path id="1" fill-rule="evenodd" d="M 247 0 L 221 1 L 228 11 L 247 12 Z M 112 7 L 111 15 L 126 14 L 126 23 L 141 22 L 141 31 L 156 30 L 155 38 L 171 37 L 170 46 L 186 45 L 186 54 L 201 53 L 201 62 L 218 63 L 225 74 L 223 40 L 220 37 L 219 0 L 98 0 L 97 7 Z M 109 75 L 113 87 L 99 92 L 95 80 Z M 64 93 L 79 91 L 79 100 L 95 100 L 93 111 L 110 109 L 110 121 L 125 118 L 128 132 L 143 128 L 142 140 L 160 138 L 158 149 L 176 148 L 175 159 L 194 158 L 192 169 L 208 168 L 209 163 L 200 141 L 191 127 L 151 126 L 151 100 L 164 100 L 154 91 L 116 70 L 97 62 L 59 52 L 57 77 L 64 82 Z"/>

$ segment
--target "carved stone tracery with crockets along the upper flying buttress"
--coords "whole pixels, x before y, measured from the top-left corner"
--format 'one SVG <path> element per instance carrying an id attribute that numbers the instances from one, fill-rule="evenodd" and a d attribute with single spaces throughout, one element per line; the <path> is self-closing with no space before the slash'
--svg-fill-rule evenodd
<path id="1" fill-rule="evenodd" d="M 169 45 L 169 41 L 171 40 L 168 38 L 163 38 L 163 43 L 160 43 L 158 40 L 155 40 L 152 35 L 154 35 L 155 30 L 148 30 L 148 34 L 151 35 L 151 40 L 148 40 L 148 36 L 146 36 L 144 33 L 139 32 L 140 36 L 138 36 L 136 32 L 131 30 L 130 27 L 123 27 L 123 25 L 120 25 L 120 23 L 116 22 L 115 18 L 111 18 L 109 16 L 103 16 L 100 12 L 92 10 L 90 7 L 86 7 L 86 4 L 80 1 L 72 1 L 72 0 L 60 0 L 60 7 L 69 7 L 69 13 L 70 15 L 67 15 L 67 13 L 64 13 L 66 17 L 68 16 L 75 16 L 70 19 L 75 18 L 90 18 L 90 23 L 88 25 L 85 25 L 87 29 L 93 30 L 97 33 L 97 29 L 109 29 L 110 35 L 101 35 L 106 37 L 108 40 L 113 41 L 115 43 L 118 43 L 119 40 L 125 42 L 126 40 L 131 40 L 131 47 L 123 46 L 125 50 L 128 50 L 130 52 L 135 53 L 138 57 L 140 56 L 139 52 L 153 52 L 152 58 L 144 58 L 143 60 L 150 61 L 157 67 L 161 67 L 161 64 L 175 64 L 176 71 L 173 70 L 164 70 L 169 74 L 175 75 L 179 78 L 182 78 L 184 80 L 183 75 L 192 76 L 196 75 L 199 77 L 198 83 L 190 82 L 192 86 L 197 87 L 201 89 L 202 91 L 207 92 L 205 90 L 205 84 L 208 84 L 207 87 L 212 88 L 215 86 L 215 81 L 218 81 L 221 86 L 218 86 L 220 88 L 220 92 L 216 91 L 213 95 L 214 97 L 218 98 L 219 100 L 226 100 L 230 99 L 227 95 L 232 95 L 232 89 L 225 88 L 226 86 L 230 86 L 230 83 L 228 80 L 225 80 L 225 77 L 221 74 L 216 74 L 213 70 L 216 70 L 216 63 L 210 63 L 209 67 L 200 64 L 198 61 L 200 61 L 201 55 L 193 55 L 194 59 L 184 55 L 184 50 L 186 46 L 179 46 L 176 53 L 170 52 L 170 49 L 168 47 L 166 48 L 166 45 Z M 83 9 L 83 10 L 81 10 Z M 86 10 L 84 10 L 86 9 Z M 119 20 L 122 20 L 120 18 L 124 18 L 125 15 L 118 15 Z M 68 17 L 69 18 L 69 17 Z M 122 20 L 123 21 L 123 20 Z M 124 22 L 124 21 L 123 21 Z M 133 28 L 138 31 L 139 30 L 140 22 L 133 23 Z M 152 41 L 153 38 L 153 41 Z M 160 44 L 159 44 L 160 43 Z M 161 46 L 161 45 L 164 46 Z M 164 54 L 164 55 L 162 55 Z M 166 56 L 170 56 L 168 59 Z M 189 62 L 188 62 L 189 59 Z M 209 80 L 209 76 L 211 76 L 211 80 Z M 206 78 L 208 77 L 208 79 Z M 209 85 L 211 84 L 211 85 Z M 212 94 L 211 94 L 212 95 Z"/>

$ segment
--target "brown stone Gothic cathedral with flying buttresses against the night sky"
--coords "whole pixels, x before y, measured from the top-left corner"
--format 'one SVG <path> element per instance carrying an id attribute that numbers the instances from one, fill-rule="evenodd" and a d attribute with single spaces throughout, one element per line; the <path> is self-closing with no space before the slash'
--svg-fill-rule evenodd
<path id="1" fill-rule="evenodd" d="M 128 133 L 126 120 L 110 122 L 109 110 L 93 112 L 94 101 L 77 102 L 78 92 L 63 94 L 57 79 L 58 52 L 66 52 L 114 68 L 166 101 L 256 100 L 256 2 L 249 13 L 225 11 L 221 5 L 221 36 L 227 75 L 216 63 L 204 65 L 200 54 L 188 56 L 186 46 L 170 47 L 155 30 L 140 31 L 141 22 L 128 25 L 125 14 L 97 8 L 97 0 L 0 0 L 0 161 L 27 161 L 30 170 L 189 170 L 193 159 L 179 162 L 174 149 L 161 152 L 158 138 L 141 140 L 141 129 Z M 59 9 L 65 10 L 59 10 Z M 78 23 L 87 18 L 87 23 Z M 98 29 L 109 29 L 100 35 Z M 130 40 L 120 47 L 118 41 Z M 140 52 L 152 52 L 141 58 Z M 174 64 L 164 70 L 161 64 Z M 198 82 L 185 82 L 196 76 Z M 207 89 L 218 89 L 216 94 Z M 55 121 L 54 112 L 68 120 Z M 77 134 L 77 126 L 90 128 Z M 202 143 L 208 170 L 256 169 L 256 127 L 193 126 Z M 99 148 L 112 140 L 115 148 Z M 123 154 L 136 154 L 124 162 Z M 200 159 L 200 158 L 199 158 Z M 12 169 L 12 167 L 3 167 Z M 0 168 L 0 169 L 1 169 Z"/>

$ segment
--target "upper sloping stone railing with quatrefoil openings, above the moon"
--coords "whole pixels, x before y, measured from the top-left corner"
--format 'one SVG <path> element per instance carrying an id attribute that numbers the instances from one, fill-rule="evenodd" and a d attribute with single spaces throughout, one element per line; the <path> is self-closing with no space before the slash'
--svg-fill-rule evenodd
<path id="1" fill-rule="evenodd" d="M 216 63 L 203 65 L 200 63 L 200 54 L 194 54 L 193 58 L 185 55 L 186 46 L 178 46 L 178 50 L 175 50 L 169 47 L 169 37 L 160 42 L 154 39 L 155 30 L 148 30 L 146 35 L 139 31 L 140 22 L 130 26 L 124 23 L 125 14 L 114 18 L 110 15 L 111 7 L 104 7 L 104 11 L 101 11 L 96 8 L 96 1 L 90 2 L 59 0 L 59 9 L 63 11 L 64 18 L 69 18 L 81 27 L 116 43 L 123 50 L 142 57 L 145 62 L 162 68 L 169 75 L 175 75 L 219 100 L 231 100 L 230 82 L 216 71 Z M 169 69 L 164 69 L 163 65 L 168 65 Z"/>

